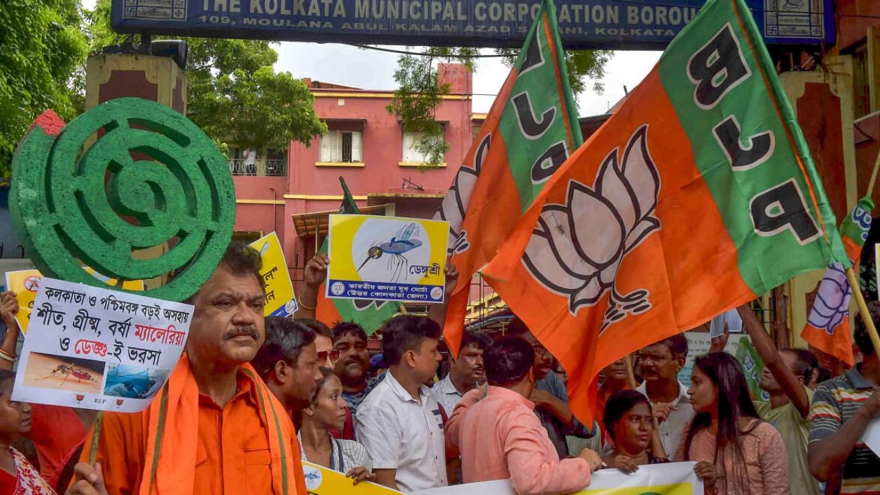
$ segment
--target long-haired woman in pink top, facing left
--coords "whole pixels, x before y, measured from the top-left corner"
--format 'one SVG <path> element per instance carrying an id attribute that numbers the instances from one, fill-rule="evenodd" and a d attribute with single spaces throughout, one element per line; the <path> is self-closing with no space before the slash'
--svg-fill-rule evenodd
<path id="1" fill-rule="evenodd" d="M 678 458 L 697 462 L 708 494 L 790 494 L 785 444 L 759 419 L 736 358 L 726 352 L 696 358 L 687 395 L 697 415 Z"/>

